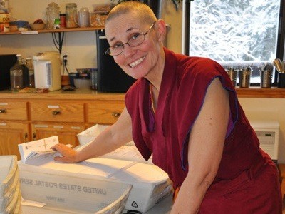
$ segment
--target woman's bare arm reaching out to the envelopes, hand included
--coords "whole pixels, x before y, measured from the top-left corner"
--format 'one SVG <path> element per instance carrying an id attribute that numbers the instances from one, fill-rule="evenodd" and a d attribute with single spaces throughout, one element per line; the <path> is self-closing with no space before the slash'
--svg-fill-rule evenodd
<path id="1" fill-rule="evenodd" d="M 124 108 L 118 121 L 106 128 L 92 143 L 90 143 L 90 145 L 86 146 L 81 151 L 74 151 L 64 144 L 57 144 L 52 148 L 62 155 L 62 157 L 55 157 L 54 159 L 56 161 L 76 163 L 114 151 L 116 148 L 120 148 L 120 146 L 125 145 L 125 143 L 128 143 L 131 140 L 132 123 L 130 114 L 126 108 Z"/>

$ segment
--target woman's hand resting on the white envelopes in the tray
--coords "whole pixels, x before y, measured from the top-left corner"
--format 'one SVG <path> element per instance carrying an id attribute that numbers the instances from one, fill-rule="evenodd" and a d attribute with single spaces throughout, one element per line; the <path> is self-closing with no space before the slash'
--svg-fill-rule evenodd
<path id="1" fill-rule="evenodd" d="M 72 148 L 66 146 L 65 144 L 58 143 L 55 146 L 52 146 L 51 149 L 58 151 L 61 153 L 61 156 L 54 157 L 55 161 L 61 161 L 63 163 L 76 163 L 79 162 L 77 160 L 78 153 L 74 151 Z"/>

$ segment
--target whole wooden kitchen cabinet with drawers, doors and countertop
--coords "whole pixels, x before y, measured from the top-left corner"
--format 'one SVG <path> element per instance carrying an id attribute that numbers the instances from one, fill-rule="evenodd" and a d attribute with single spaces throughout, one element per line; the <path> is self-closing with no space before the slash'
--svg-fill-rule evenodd
<path id="1" fill-rule="evenodd" d="M 50 136 L 78 146 L 86 128 L 113 124 L 125 107 L 125 94 L 88 89 L 19 93 L 0 91 L 0 155 L 19 156 L 18 144 Z"/>

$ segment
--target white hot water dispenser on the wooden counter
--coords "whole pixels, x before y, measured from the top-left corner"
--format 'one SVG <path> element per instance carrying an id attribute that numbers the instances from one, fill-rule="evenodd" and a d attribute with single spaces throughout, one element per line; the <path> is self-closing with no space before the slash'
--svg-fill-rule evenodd
<path id="1" fill-rule="evenodd" d="M 61 89 L 61 54 L 46 51 L 33 56 L 35 87 L 48 88 L 49 91 Z"/>

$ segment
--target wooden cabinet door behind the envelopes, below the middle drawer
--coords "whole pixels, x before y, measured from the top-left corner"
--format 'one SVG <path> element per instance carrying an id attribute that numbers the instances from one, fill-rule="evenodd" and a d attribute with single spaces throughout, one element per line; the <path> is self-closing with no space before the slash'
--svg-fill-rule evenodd
<path id="1" fill-rule="evenodd" d="M 83 124 L 66 125 L 61 123 L 37 123 L 31 125 L 33 141 L 58 136 L 59 143 L 78 146 L 77 134 L 85 130 Z"/>

